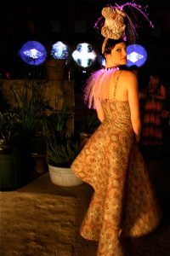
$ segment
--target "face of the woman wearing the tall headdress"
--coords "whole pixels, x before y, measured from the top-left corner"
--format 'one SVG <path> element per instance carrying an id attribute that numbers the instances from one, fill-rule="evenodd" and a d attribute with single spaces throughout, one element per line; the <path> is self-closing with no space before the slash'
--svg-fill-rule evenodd
<path id="1" fill-rule="evenodd" d="M 111 49 L 111 54 L 106 55 L 105 60 L 111 67 L 116 67 L 120 65 L 127 64 L 127 47 L 124 42 L 116 44 L 113 49 Z"/>

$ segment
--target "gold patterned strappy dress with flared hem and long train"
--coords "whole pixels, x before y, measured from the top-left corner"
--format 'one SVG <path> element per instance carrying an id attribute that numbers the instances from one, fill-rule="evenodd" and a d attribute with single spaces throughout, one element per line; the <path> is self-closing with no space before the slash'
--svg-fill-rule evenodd
<path id="1" fill-rule="evenodd" d="M 99 241 L 99 256 L 120 256 L 120 236 L 156 229 L 161 209 L 134 139 L 128 102 L 102 100 L 105 121 L 71 165 L 94 188 L 81 235 Z"/>

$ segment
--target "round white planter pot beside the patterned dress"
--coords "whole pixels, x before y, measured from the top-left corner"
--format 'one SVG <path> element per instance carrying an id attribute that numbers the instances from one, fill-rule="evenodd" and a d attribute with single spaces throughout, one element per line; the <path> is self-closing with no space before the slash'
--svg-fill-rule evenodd
<path id="1" fill-rule="evenodd" d="M 49 176 L 51 182 L 58 186 L 71 187 L 83 183 L 81 179 L 71 171 L 71 168 L 50 166 L 48 164 Z"/>

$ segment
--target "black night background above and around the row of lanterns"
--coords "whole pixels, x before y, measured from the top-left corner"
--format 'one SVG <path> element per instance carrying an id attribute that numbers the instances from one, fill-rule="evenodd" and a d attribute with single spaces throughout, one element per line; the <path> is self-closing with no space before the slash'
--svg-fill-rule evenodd
<path id="1" fill-rule="evenodd" d="M 129 1 L 130 2 L 130 1 Z M 99 18 L 101 9 L 107 4 L 105 0 L 44 0 L 24 1 L 23 3 L 4 3 L 0 10 L 0 72 L 10 73 L 12 79 L 20 79 L 25 64 L 18 55 L 22 44 L 28 40 L 37 40 L 46 49 L 61 40 L 75 49 L 78 43 L 86 41 L 100 50 L 99 38 L 94 31 L 94 22 Z M 116 1 L 118 4 L 125 1 Z M 148 4 L 150 20 L 154 29 L 148 23 L 139 20 L 142 27 L 139 30 L 139 44 L 143 44 L 148 52 L 148 59 L 141 67 L 140 73 L 147 73 L 150 67 L 161 70 L 167 81 L 170 73 L 170 1 L 151 0 L 139 1 L 142 6 Z M 48 53 L 49 55 L 49 53 Z M 43 64 L 45 65 L 45 64 Z M 42 67 L 43 67 L 42 65 Z M 38 68 L 42 68 L 38 67 Z M 142 75 L 142 77 L 144 77 Z M 143 85 L 142 85 L 143 86 Z"/>

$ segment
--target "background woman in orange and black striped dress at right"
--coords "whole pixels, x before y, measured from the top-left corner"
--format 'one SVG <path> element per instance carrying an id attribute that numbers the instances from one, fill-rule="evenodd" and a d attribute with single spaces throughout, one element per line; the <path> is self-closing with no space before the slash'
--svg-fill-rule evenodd
<path id="1" fill-rule="evenodd" d="M 163 143 L 161 112 L 166 100 L 166 90 L 158 73 L 150 73 L 146 90 L 141 145 L 161 146 Z"/>

